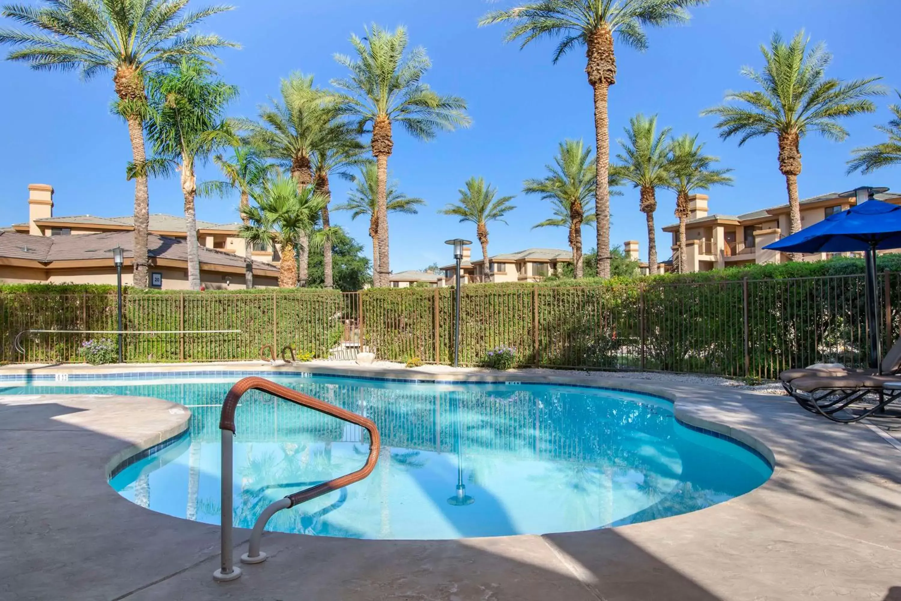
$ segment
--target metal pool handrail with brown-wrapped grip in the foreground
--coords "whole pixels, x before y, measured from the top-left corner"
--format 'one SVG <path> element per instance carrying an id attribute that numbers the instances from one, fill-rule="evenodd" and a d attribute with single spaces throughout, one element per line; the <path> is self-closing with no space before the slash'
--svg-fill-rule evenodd
<path id="1" fill-rule="evenodd" d="M 243 563 L 259 563 L 266 560 L 266 553 L 259 551 L 259 542 L 263 536 L 263 528 L 266 527 L 269 518 L 282 509 L 300 505 L 317 496 L 323 496 L 332 492 L 332 490 L 339 490 L 366 478 L 375 469 L 378 461 L 378 451 L 381 448 L 381 438 L 378 435 L 376 424 L 346 409 L 341 409 L 341 407 L 297 392 L 291 388 L 279 386 L 265 378 L 244 378 L 232 386 L 232 389 L 225 395 L 222 416 L 219 419 L 219 430 L 222 433 L 222 567 L 213 574 L 214 580 L 219 582 L 227 582 L 241 577 L 241 569 L 232 564 L 232 442 L 235 434 L 234 413 L 238 408 L 238 401 L 241 400 L 241 396 L 244 396 L 250 390 L 259 390 L 366 428 L 369 432 L 369 457 L 366 458 L 366 464 L 362 468 L 351 474 L 341 476 L 341 478 L 334 478 L 314 487 L 305 488 L 266 507 L 259 514 L 256 524 L 253 524 L 253 532 L 250 533 L 247 553 L 241 555 L 241 562 Z"/>

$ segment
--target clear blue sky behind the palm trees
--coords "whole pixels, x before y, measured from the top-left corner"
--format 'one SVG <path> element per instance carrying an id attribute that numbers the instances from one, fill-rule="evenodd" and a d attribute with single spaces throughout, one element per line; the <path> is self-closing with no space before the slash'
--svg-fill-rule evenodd
<path id="1" fill-rule="evenodd" d="M 32 3 L 37 4 L 37 3 Z M 196 0 L 192 5 L 207 5 Z M 393 215 L 391 267 L 421 269 L 433 261 L 451 262 L 443 241 L 475 236 L 475 227 L 437 214 L 457 197 L 470 176 L 480 175 L 501 194 L 517 194 L 518 208 L 508 223 L 489 225 L 489 253 L 533 246 L 567 248 L 563 229 L 532 231 L 549 216 L 537 198 L 521 194 L 524 178 L 540 177 L 557 143 L 564 138 L 593 140 L 591 88 L 584 74 L 584 54 L 573 52 L 551 63 L 553 42 L 542 41 L 525 50 L 504 44 L 504 28 L 477 28 L 478 17 L 509 0 L 423 2 L 422 0 L 330 0 L 324 3 L 291 0 L 243 0 L 232 13 L 214 17 L 202 29 L 242 44 L 224 50 L 220 72 L 241 87 L 232 114 L 253 116 L 255 107 L 278 92 L 280 77 L 292 71 L 314 74 L 321 85 L 343 70 L 332 59 L 350 51 L 350 32 L 362 33 L 368 23 L 394 27 L 405 24 L 414 45 L 429 52 L 433 68 L 428 82 L 437 91 L 469 101 L 473 125 L 469 130 L 441 134 L 423 143 L 397 131 L 389 168 L 410 196 L 428 206 L 418 215 Z M 728 89 L 744 89 L 742 65 L 760 66 L 758 46 L 771 32 L 791 35 L 800 28 L 833 51 L 829 74 L 854 78 L 882 76 L 892 89 L 901 87 L 896 59 L 901 41 L 896 35 L 896 0 L 713 0 L 693 10 L 687 26 L 649 31 L 651 47 L 644 53 L 618 45 L 619 76 L 610 93 L 611 135 L 622 137 L 633 114 L 659 114 L 662 125 L 676 133 L 700 133 L 711 153 L 735 169 L 735 186 L 716 188 L 710 208 L 739 214 L 787 202 L 785 180 L 778 172 L 774 139 L 751 141 L 738 148 L 720 141 L 714 119 L 700 117 L 705 107 L 718 104 Z M 4 23 L 8 25 L 9 23 Z M 860 32 L 855 31 L 860 28 Z M 124 181 L 124 165 L 131 158 L 123 123 L 109 114 L 113 87 L 109 77 L 90 82 L 77 75 L 32 72 L 23 64 L 0 62 L 0 114 L 4 115 L 0 145 L 0 224 L 27 218 L 27 185 L 46 183 L 56 188 L 55 214 L 132 214 L 133 185 Z M 818 137 L 802 141 L 804 172 L 799 178 L 802 197 L 842 191 L 863 184 L 901 190 L 901 168 L 887 168 L 863 178 L 846 177 L 850 150 L 881 140 L 872 128 L 889 118 L 887 105 L 897 96 L 877 99 L 878 112 L 846 121 L 848 141 Z M 614 149 L 616 144 L 614 142 Z M 215 177 L 212 168 L 202 174 Z M 340 202 L 349 185 L 336 182 Z M 641 241 L 647 253 L 644 215 L 638 211 L 638 192 L 623 189 L 613 199 L 612 240 Z M 658 226 L 672 223 L 674 198 L 658 194 Z M 236 221 L 237 199 L 202 199 L 201 219 Z M 150 184 L 152 213 L 180 214 L 182 198 L 177 179 Z M 371 252 L 368 224 L 351 222 L 347 214 L 334 221 Z M 587 247 L 594 230 L 586 228 Z M 669 237 L 658 233 L 660 258 L 669 257 Z M 479 250 L 474 250 L 479 256 Z"/>

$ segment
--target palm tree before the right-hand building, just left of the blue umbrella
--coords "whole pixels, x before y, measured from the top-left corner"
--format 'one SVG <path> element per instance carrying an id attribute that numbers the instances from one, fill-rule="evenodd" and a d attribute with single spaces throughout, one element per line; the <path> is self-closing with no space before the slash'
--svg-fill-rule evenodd
<path id="1" fill-rule="evenodd" d="M 803 31 L 791 41 L 773 34 L 769 49 L 760 46 L 765 65 L 763 71 L 742 68 L 760 90 L 730 92 L 726 101 L 737 100 L 745 105 L 720 105 L 701 114 L 720 118 L 716 127 L 724 140 L 741 136 L 739 146 L 753 138 L 776 134 L 779 145 L 779 171 L 786 178 L 791 233 L 801 229 L 801 205 L 797 194 L 797 177 L 801 174 L 800 142 L 808 132 L 816 132 L 834 141 L 848 137 L 848 131 L 838 123 L 842 117 L 872 113 L 876 105 L 867 96 L 884 94 L 873 82 L 880 77 L 855 79 L 844 83 L 841 79 L 826 78 L 825 70 L 832 55 L 821 42 L 810 50 L 810 38 Z"/>

